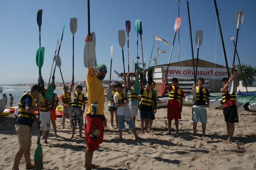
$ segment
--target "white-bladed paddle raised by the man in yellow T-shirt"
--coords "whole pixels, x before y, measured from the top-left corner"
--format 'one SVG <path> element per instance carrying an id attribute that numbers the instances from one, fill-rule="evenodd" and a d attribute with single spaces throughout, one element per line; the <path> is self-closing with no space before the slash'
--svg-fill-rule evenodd
<path id="1" fill-rule="evenodd" d="M 88 12 L 88 35 L 90 35 L 90 0 L 87 0 Z M 84 45 L 84 67 L 93 68 L 96 65 L 95 45 L 92 41 Z"/>

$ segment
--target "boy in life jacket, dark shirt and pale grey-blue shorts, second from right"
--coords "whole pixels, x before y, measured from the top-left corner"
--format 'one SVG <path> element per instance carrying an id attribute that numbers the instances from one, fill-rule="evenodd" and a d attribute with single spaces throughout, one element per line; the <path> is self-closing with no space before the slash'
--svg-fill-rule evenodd
<path id="1" fill-rule="evenodd" d="M 198 120 L 202 122 L 202 130 L 203 130 L 203 137 L 205 137 L 205 129 L 207 123 L 207 114 L 206 114 L 206 107 L 209 107 L 209 92 L 207 88 L 203 87 L 204 85 L 204 78 L 197 79 L 197 87 L 196 84 L 193 84 L 193 88 L 191 90 L 191 94 L 193 94 L 193 90 L 196 90 L 196 102 L 192 108 L 192 121 L 193 121 L 193 130 L 194 135 L 196 135 L 196 127 Z"/>

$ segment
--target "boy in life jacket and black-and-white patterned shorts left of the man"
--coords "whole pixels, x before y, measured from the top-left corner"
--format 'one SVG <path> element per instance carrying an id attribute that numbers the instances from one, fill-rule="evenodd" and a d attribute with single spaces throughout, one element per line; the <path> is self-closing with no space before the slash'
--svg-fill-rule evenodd
<path id="1" fill-rule="evenodd" d="M 71 85 L 71 92 L 72 92 L 73 86 Z M 82 127 L 84 126 L 84 110 L 86 106 L 86 98 L 84 94 L 82 93 L 83 87 L 81 85 L 76 86 L 76 92 L 74 97 L 74 103 L 72 103 L 72 114 L 69 116 L 72 116 L 72 136 L 68 139 L 74 138 L 76 126 L 78 124 L 79 126 L 79 138 L 82 139 Z M 83 107 L 83 108 L 82 108 Z M 78 123 L 77 123 L 78 121 Z"/>

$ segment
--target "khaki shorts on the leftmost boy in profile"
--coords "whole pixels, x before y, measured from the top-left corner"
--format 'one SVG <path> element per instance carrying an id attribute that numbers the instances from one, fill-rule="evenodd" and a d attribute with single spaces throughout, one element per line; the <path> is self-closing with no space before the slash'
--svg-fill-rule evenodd
<path id="1" fill-rule="evenodd" d="M 28 125 L 15 124 L 15 130 L 18 134 L 18 141 L 20 144 L 20 149 L 27 149 L 31 146 L 32 133 Z"/>

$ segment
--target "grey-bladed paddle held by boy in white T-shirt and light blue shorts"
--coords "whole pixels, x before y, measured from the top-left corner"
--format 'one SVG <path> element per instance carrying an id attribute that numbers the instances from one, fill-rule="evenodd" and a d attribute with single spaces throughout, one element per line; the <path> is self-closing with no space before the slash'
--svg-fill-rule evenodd
<path id="1" fill-rule="evenodd" d="M 124 74 L 125 74 L 125 66 L 124 66 L 124 45 L 125 45 L 125 31 L 119 30 L 118 31 L 118 41 L 119 45 L 122 48 L 122 55 L 123 55 L 123 67 L 124 67 Z M 127 89 L 126 89 L 126 77 L 124 77 L 124 90 L 125 90 L 125 100 L 127 100 Z M 129 109 L 128 104 L 124 104 L 124 120 L 130 121 L 131 120 L 131 110 Z"/>

